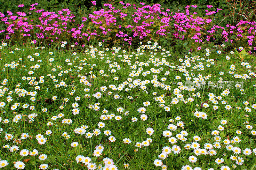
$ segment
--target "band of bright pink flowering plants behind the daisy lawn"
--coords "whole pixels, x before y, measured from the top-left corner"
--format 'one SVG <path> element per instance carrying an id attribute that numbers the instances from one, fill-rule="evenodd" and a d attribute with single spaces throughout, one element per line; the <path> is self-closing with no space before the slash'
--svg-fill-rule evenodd
<path id="1" fill-rule="evenodd" d="M 92 1 L 94 5 L 96 2 Z M 125 4 L 118 7 L 104 4 L 105 8 L 93 11 L 88 16 L 81 17 L 75 23 L 75 15 L 69 9 L 51 12 L 36 8 L 32 4 L 29 10 L 7 15 L 0 13 L 0 24 L 6 29 L 6 39 L 32 39 L 34 42 L 49 40 L 69 40 L 83 47 L 93 41 L 102 41 L 107 45 L 137 45 L 139 41 L 149 40 L 170 46 L 176 40 L 183 40 L 198 48 L 205 42 L 225 41 L 226 44 L 241 44 L 244 47 L 255 44 L 256 22 L 240 21 L 235 26 L 218 26 L 216 18 L 221 9 L 206 6 L 203 16 L 197 14 L 196 5 L 187 5 L 184 10 L 164 10 L 160 4 L 145 5 L 140 3 Z M 22 4 L 19 5 L 22 7 Z M 96 9 L 96 8 L 95 8 Z"/>

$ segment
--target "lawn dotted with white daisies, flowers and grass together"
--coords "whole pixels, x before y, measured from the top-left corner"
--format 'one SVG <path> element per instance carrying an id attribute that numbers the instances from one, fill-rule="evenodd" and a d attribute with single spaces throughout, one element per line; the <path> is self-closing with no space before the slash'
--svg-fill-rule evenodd
<path id="1" fill-rule="evenodd" d="M 0 46 L 1 168 L 255 168 L 256 63 L 243 47 L 59 45 L 72 49 Z"/>

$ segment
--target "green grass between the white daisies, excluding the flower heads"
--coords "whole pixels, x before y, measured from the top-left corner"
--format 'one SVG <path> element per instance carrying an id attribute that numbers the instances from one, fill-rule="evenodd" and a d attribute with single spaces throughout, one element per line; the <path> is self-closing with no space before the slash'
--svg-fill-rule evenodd
<path id="1" fill-rule="evenodd" d="M 77 155 L 90 157 L 92 159 L 91 162 L 96 163 L 97 166 L 99 164 L 104 166 L 103 159 L 108 157 L 109 159 L 113 159 L 118 169 L 124 169 L 124 163 L 129 164 L 129 167 L 126 169 L 162 169 L 161 166 L 155 166 L 153 164 L 154 160 L 158 159 L 158 155 L 162 153 L 163 147 L 169 146 L 172 148 L 175 144 L 180 146 L 181 151 L 178 154 L 174 154 L 172 151 L 168 157 L 163 160 L 163 164 L 168 166 L 167 169 L 181 169 L 184 165 L 189 165 L 192 168 L 201 167 L 202 169 L 208 169 L 212 167 L 213 169 L 220 169 L 220 167 L 224 165 L 231 168 L 232 164 L 237 166 L 236 169 L 254 169 L 256 151 L 253 151 L 253 149 L 256 148 L 256 144 L 255 135 L 253 136 L 251 131 L 256 130 L 255 107 L 252 108 L 252 105 L 256 104 L 256 78 L 254 73 L 256 70 L 256 62 L 246 60 L 246 58 L 244 61 L 241 61 L 240 58 L 236 57 L 234 54 L 230 54 L 229 51 L 226 51 L 226 49 L 221 46 L 208 47 L 211 52 L 209 56 L 206 56 L 205 49 L 181 55 L 175 53 L 172 49 L 166 49 L 164 52 L 163 49 L 155 48 L 157 51 L 154 51 L 153 49 L 144 47 L 146 46 L 141 46 L 140 51 L 134 49 L 133 51 L 127 50 L 126 53 L 123 53 L 122 50 L 124 49 L 106 51 L 104 47 L 96 46 L 94 48 L 97 48 L 97 51 L 95 52 L 95 56 L 92 56 L 90 48 L 78 52 L 76 48 L 74 48 L 74 50 L 56 50 L 54 48 L 36 49 L 35 47 L 29 47 L 29 45 L 3 46 L 2 49 L 0 49 L 0 81 L 6 83 L 2 83 L 0 97 L 0 102 L 5 103 L 5 106 L 1 107 L 0 110 L 0 128 L 2 128 L 0 134 L 0 158 L 7 160 L 9 163 L 9 165 L 5 166 L 3 169 L 16 169 L 13 164 L 14 161 L 24 161 L 24 169 L 38 169 L 39 166 L 44 163 L 49 166 L 49 169 L 84 169 L 84 164 L 76 162 Z M 15 48 L 20 48 L 20 50 L 15 50 Z M 168 53 L 166 53 L 168 50 L 170 51 L 170 56 L 163 57 L 163 55 L 168 55 Z M 222 53 L 218 54 L 218 50 L 221 50 Z M 10 51 L 13 51 L 13 53 L 10 53 Z M 103 52 L 100 54 L 99 51 Z M 116 55 L 113 55 L 115 51 Z M 50 55 L 49 52 L 53 52 L 53 54 Z M 77 54 L 74 55 L 74 52 L 77 52 Z M 162 54 L 163 52 L 165 54 Z M 36 53 L 39 53 L 39 55 L 36 56 Z M 31 55 L 31 58 L 34 58 L 34 61 L 28 57 L 29 55 Z M 230 57 L 230 60 L 226 60 L 226 55 Z M 50 62 L 50 58 L 54 58 L 54 61 Z M 188 58 L 190 58 L 188 63 L 190 63 L 191 66 L 185 66 L 184 69 L 187 70 L 186 72 L 192 78 L 191 81 L 198 75 L 202 75 L 203 78 L 209 74 L 212 76 L 208 77 L 209 79 L 200 80 L 201 83 L 205 83 L 205 86 L 201 85 L 195 88 L 194 92 L 185 89 L 181 90 L 179 93 L 182 94 L 183 97 L 179 99 L 179 102 L 174 104 L 172 103 L 172 99 L 177 97 L 174 95 L 174 90 L 184 88 L 184 86 L 182 87 L 178 84 L 181 82 L 185 85 L 186 82 L 184 72 L 181 72 L 178 67 L 185 65 L 184 61 Z M 67 59 L 69 60 L 68 62 Z M 181 62 L 179 59 L 183 59 L 183 61 Z M 208 63 L 208 59 L 212 59 L 213 63 Z M 38 60 L 41 60 L 41 62 Z M 126 62 L 124 62 L 124 60 Z M 127 62 L 127 60 L 130 60 L 130 62 Z M 109 61 L 109 63 L 107 63 L 107 61 Z M 160 61 L 162 62 L 159 63 Z M 148 65 L 144 64 L 140 66 L 140 62 L 148 62 Z M 247 68 L 248 66 L 242 66 L 242 62 L 247 63 L 250 68 Z M 15 63 L 18 64 L 15 66 Z M 70 63 L 70 65 L 68 63 Z M 166 65 L 164 63 L 166 63 Z M 36 64 L 39 64 L 40 68 L 31 68 Z M 109 64 L 114 64 L 115 67 L 110 68 L 109 66 L 111 65 Z M 192 68 L 198 64 L 203 65 L 204 69 L 201 70 L 199 67 L 196 69 Z M 207 64 L 210 64 L 210 67 L 207 67 Z M 233 74 L 229 74 L 228 71 L 231 71 L 230 66 L 232 64 L 235 65 L 235 70 L 233 70 Z M 136 67 L 132 68 L 132 66 L 135 65 Z M 132 71 L 137 72 L 140 70 L 139 68 L 143 69 L 139 76 L 131 77 L 130 73 L 132 73 Z M 152 70 L 152 68 L 155 70 L 159 69 L 161 72 L 154 73 L 154 69 Z M 54 71 L 52 69 L 56 70 Z M 115 69 L 116 72 L 112 73 L 111 69 Z M 68 70 L 68 73 L 64 73 L 65 70 Z M 100 70 L 104 70 L 105 75 L 100 75 Z M 34 73 L 29 74 L 29 71 L 33 71 Z M 150 71 L 151 73 L 143 76 L 142 74 L 146 71 Z M 165 75 L 166 71 L 169 71 L 168 75 Z M 224 73 L 223 75 L 220 75 L 221 71 Z M 58 75 L 59 73 L 61 73 L 62 76 Z M 191 73 L 194 73 L 194 77 Z M 51 78 L 48 74 L 55 76 L 55 78 Z M 92 74 L 95 74 L 96 78 L 91 78 L 90 76 Z M 235 74 L 247 74 L 250 78 L 246 78 L 246 80 L 243 78 L 234 78 Z M 159 83 L 169 85 L 169 91 L 160 86 L 154 87 L 154 83 L 152 83 L 154 79 L 153 75 L 157 75 L 157 81 Z M 39 83 L 41 76 L 44 76 L 44 83 Z M 85 76 L 91 86 L 81 83 L 80 76 Z M 180 79 L 176 79 L 176 76 L 180 76 Z M 22 80 L 24 77 L 26 77 L 26 79 Z M 31 81 L 27 79 L 28 77 L 36 77 L 36 79 Z M 115 77 L 117 77 L 118 80 L 114 80 Z M 141 89 L 140 85 L 130 88 L 128 84 L 120 91 L 109 88 L 109 85 L 115 85 L 116 88 L 118 88 L 118 86 L 127 81 L 128 78 L 132 78 L 132 80 L 140 79 L 140 82 L 148 80 L 148 84 L 145 84 L 146 90 Z M 165 78 L 166 80 L 162 81 L 161 78 Z M 224 87 L 218 88 L 220 83 L 217 82 L 221 78 L 223 79 L 224 83 L 222 83 L 222 85 L 224 85 Z M 6 81 L 6 79 L 8 81 Z M 54 79 L 56 80 L 54 81 Z M 56 85 L 60 84 L 62 81 L 65 82 L 66 86 L 56 87 Z M 208 86 L 209 81 L 212 81 L 217 87 L 212 88 Z M 229 81 L 229 87 L 225 81 Z M 36 82 L 38 85 L 36 85 Z M 235 88 L 236 82 L 243 82 L 243 92 L 241 88 Z M 134 81 L 129 83 L 135 84 Z M 40 90 L 35 90 L 36 86 L 39 86 Z M 102 96 L 99 99 L 93 97 L 93 94 L 100 92 L 100 87 L 102 86 L 106 86 L 107 91 L 101 92 Z M 85 88 L 89 88 L 90 91 L 85 92 Z M 126 88 L 129 88 L 128 92 L 125 91 Z M 28 96 L 27 94 L 22 97 L 21 92 L 17 92 L 18 89 L 25 89 L 27 92 L 36 91 L 37 94 L 34 96 L 35 101 L 30 100 L 32 96 Z M 209 94 L 213 93 L 216 99 L 216 96 L 221 96 L 221 93 L 226 89 L 228 89 L 229 94 L 222 96 L 222 100 L 217 100 L 217 104 L 213 104 L 210 101 Z M 70 95 L 70 92 L 74 92 L 74 94 Z M 108 95 L 108 92 L 112 92 L 112 94 Z M 156 92 L 157 95 L 154 96 L 153 92 Z M 86 94 L 90 94 L 90 98 L 86 98 Z M 113 94 L 118 94 L 120 98 L 114 99 Z M 160 107 L 159 105 L 161 103 L 154 99 L 161 95 L 164 96 L 163 104 L 169 107 L 168 111 L 166 111 L 164 107 Z M 12 97 L 12 101 L 7 101 L 8 96 Z M 57 96 L 57 99 L 51 100 L 53 96 Z M 77 96 L 80 97 L 79 101 L 75 100 Z M 133 99 L 128 99 L 127 96 L 132 96 Z M 68 99 L 68 102 L 64 102 L 63 99 L 65 98 Z M 188 98 L 193 98 L 194 101 L 183 102 L 182 98 L 184 101 L 188 100 Z M 226 104 L 222 104 L 224 100 L 227 102 Z M 150 105 L 143 106 L 143 102 L 145 101 L 149 101 Z M 250 112 L 244 110 L 246 106 L 243 102 L 245 101 L 248 102 L 247 107 L 251 108 Z M 60 109 L 63 102 L 64 108 Z M 78 103 L 79 106 L 77 108 L 80 110 L 80 113 L 77 115 L 72 114 L 74 109 L 72 104 L 75 102 Z M 99 111 L 88 108 L 89 105 L 94 105 L 97 102 L 100 103 Z M 11 107 L 15 103 L 19 103 L 20 106 L 12 110 Z M 35 106 L 35 110 L 31 110 L 29 107 L 23 108 L 22 106 L 25 103 L 30 106 Z M 209 107 L 201 107 L 201 104 L 204 103 L 207 103 Z M 230 105 L 232 109 L 227 110 L 225 108 L 226 105 Z M 213 106 L 218 106 L 218 109 L 214 110 Z M 117 112 L 117 107 L 122 107 L 124 111 L 121 113 Z M 148 116 L 146 121 L 140 119 L 142 113 L 137 111 L 140 107 L 147 109 L 144 113 Z M 47 108 L 48 111 L 43 112 L 43 108 Z M 111 120 L 100 120 L 103 109 L 108 110 L 108 113 L 105 115 L 120 115 L 122 116 L 122 120 L 117 121 L 115 117 Z M 207 114 L 207 119 L 194 116 L 196 111 Z M 129 114 L 126 115 L 125 112 Z M 29 119 L 28 115 L 34 113 L 36 113 L 37 116 L 34 119 Z M 52 116 L 60 113 L 64 115 L 62 118 L 52 120 Z M 12 120 L 15 116 L 19 114 L 21 118 L 18 122 L 13 122 Z M 176 120 L 175 118 L 177 116 L 180 116 L 181 119 Z M 132 117 L 136 117 L 138 121 L 132 122 Z M 8 119 L 9 123 L 4 123 L 5 119 Z M 62 123 L 63 119 L 71 119 L 72 123 L 70 125 Z M 175 131 L 171 131 L 172 137 L 176 137 L 182 130 L 187 131 L 187 136 L 184 136 L 187 140 L 184 142 L 176 137 L 177 142 L 171 144 L 168 142 L 169 137 L 162 135 L 163 131 L 170 130 L 167 128 L 168 125 L 171 124 L 171 119 L 173 119 L 173 124 L 176 124 L 178 121 L 184 123 L 183 127 L 178 126 Z M 29 122 L 29 120 L 33 121 Z M 220 123 L 221 120 L 227 120 L 227 124 L 222 125 Z M 52 122 L 52 126 L 48 126 L 48 122 Z M 105 127 L 99 128 L 97 125 L 99 122 L 104 122 Z M 252 129 L 246 128 L 247 124 L 251 125 Z M 101 134 L 99 136 L 94 135 L 92 138 L 87 138 L 86 134 L 76 134 L 74 129 L 82 125 L 88 126 L 86 133 L 93 132 L 94 129 L 100 129 Z M 216 151 L 215 155 L 201 154 L 196 156 L 193 152 L 194 149 L 185 149 L 184 146 L 186 144 L 195 142 L 193 137 L 196 135 L 201 137 L 201 140 L 198 141 L 200 149 L 203 149 L 206 143 L 213 145 L 215 140 L 211 133 L 213 130 L 218 130 L 219 125 L 224 127 L 223 131 L 219 130 L 219 136 L 222 138 L 220 141 L 222 147 L 220 149 L 212 148 Z M 155 132 L 152 136 L 146 133 L 147 128 L 154 129 Z M 45 134 L 47 130 L 52 131 L 50 136 Z M 104 135 L 105 130 L 112 132 L 111 136 L 116 138 L 115 142 L 108 141 L 108 137 Z M 236 130 L 240 130 L 242 134 L 237 134 Z M 68 133 L 68 139 L 62 136 L 64 132 Z M 11 140 L 5 139 L 5 133 L 13 135 Z M 21 143 L 13 142 L 13 140 L 21 138 L 23 133 L 28 133 L 29 137 L 22 139 Z M 44 138 L 47 137 L 45 144 L 38 143 L 36 139 L 37 134 L 42 134 Z M 237 165 L 236 161 L 230 159 L 231 155 L 236 156 L 236 154 L 226 149 L 226 144 L 223 143 L 225 139 L 229 138 L 231 141 L 233 137 L 239 137 L 241 140 L 239 143 L 231 144 L 241 149 L 241 153 L 237 154 L 237 156 L 243 158 L 244 163 L 242 165 Z M 124 144 L 124 138 L 129 138 L 132 141 L 131 144 Z M 152 139 L 149 146 L 142 146 L 141 148 L 135 147 L 137 142 L 141 143 L 147 138 Z M 79 145 L 77 147 L 71 147 L 70 144 L 72 142 L 78 142 Z M 93 156 L 93 152 L 98 144 L 103 145 L 105 149 L 99 157 L 95 157 Z M 4 145 L 17 145 L 19 150 L 10 152 L 10 148 L 2 148 Z M 246 148 L 251 149 L 252 154 L 244 155 L 243 150 Z M 22 149 L 29 151 L 36 149 L 38 155 L 46 154 L 47 159 L 39 160 L 38 155 L 30 156 L 29 154 L 22 157 L 20 155 Z M 188 157 L 190 155 L 197 157 L 196 163 L 189 162 Z M 215 163 L 217 158 L 224 159 L 224 162 L 218 165 Z"/>

